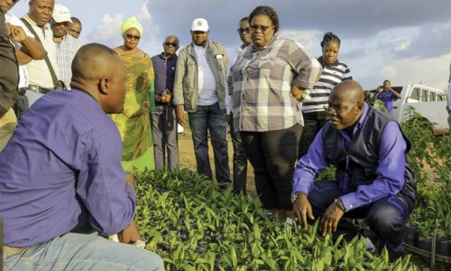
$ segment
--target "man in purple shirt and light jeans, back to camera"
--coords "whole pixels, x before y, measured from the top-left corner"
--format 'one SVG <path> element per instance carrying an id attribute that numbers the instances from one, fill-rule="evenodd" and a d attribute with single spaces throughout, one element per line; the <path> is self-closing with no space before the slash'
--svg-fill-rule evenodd
<path id="1" fill-rule="evenodd" d="M 134 181 L 106 113 L 124 108 L 125 69 L 115 51 L 83 46 L 73 91 L 52 91 L 25 113 L 0 154 L 4 270 L 163 270 L 161 257 L 87 234 L 140 239 Z"/>

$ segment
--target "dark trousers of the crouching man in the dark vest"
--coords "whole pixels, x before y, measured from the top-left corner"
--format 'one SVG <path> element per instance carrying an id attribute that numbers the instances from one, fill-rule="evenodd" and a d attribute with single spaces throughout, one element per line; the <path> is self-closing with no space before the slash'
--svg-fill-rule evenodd
<path id="1" fill-rule="evenodd" d="M 318 220 L 330 204 L 345 193 L 339 189 L 338 182 L 335 181 L 317 181 L 314 184 L 314 189 L 308 193 L 308 201 L 312 206 L 313 216 Z M 405 254 L 402 236 L 414 205 L 410 198 L 399 192 L 364 207 L 347 211 L 343 217 L 364 219 L 379 240 L 379 253 L 387 247 L 389 257 L 391 261 L 394 261 Z M 349 240 L 356 234 L 356 232 L 350 232 L 351 229 L 350 225 L 339 223 L 334 237 L 346 234 L 346 239 Z"/>

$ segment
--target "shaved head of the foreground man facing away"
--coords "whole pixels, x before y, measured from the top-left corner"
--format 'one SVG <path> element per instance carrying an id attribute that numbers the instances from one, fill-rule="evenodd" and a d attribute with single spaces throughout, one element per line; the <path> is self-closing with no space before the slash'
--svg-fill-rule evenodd
<path id="1" fill-rule="evenodd" d="M 124 62 L 112 49 L 99 43 L 82 46 L 72 61 L 70 87 L 87 92 L 106 113 L 124 107 L 126 72 Z"/>

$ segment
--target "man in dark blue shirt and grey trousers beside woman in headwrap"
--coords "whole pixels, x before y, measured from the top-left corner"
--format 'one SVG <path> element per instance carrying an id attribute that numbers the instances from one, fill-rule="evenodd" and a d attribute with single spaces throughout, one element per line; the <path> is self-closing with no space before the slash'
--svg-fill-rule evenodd
<path id="1" fill-rule="evenodd" d="M 163 52 L 152 56 L 155 72 L 155 107 L 151 111 L 153 158 L 156 169 L 169 171 L 179 169 L 177 119 L 171 103 L 178 49 L 179 39 L 168 36 L 163 42 Z"/>

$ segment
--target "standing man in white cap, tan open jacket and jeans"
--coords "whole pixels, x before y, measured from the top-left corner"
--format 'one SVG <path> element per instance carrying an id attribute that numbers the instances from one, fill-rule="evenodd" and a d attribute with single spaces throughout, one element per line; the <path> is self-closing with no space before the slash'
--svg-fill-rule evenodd
<path id="1" fill-rule="evenodd" d="M 226 141 L 226 49 L 208 40 L 206 19 L 194 19 L 192 42 L 179 53 L 174 82 L 173 104 L 181 126 L 185 125 L 183 106 L 189 114 L 198 173 L 213 180 L 208 158 L 208 136 L 215 154 L 216 181 L 230 187 L 230 168 Z"/>

